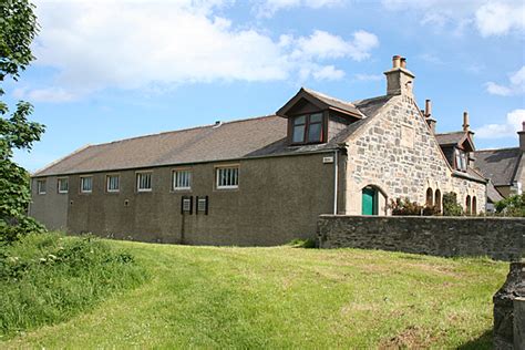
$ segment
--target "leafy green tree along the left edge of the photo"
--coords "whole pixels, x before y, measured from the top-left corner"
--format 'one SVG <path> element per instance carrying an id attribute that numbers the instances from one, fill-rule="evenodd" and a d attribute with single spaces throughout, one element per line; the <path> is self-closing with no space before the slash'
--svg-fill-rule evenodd
<path id="1" fill-rule="evenodd" d="M 29 0 L 0 1 L 0 83 L 18 80 L 31 63 L 31 42 L 38 33 L 34 6 Z M 3 96 L 0 86 L 0 99 Z M 44 126 L 29 122 L 33 112 L 29 102 L 17 103 L 9 115 L 9 106 L 0 100 L 0 240 L 12 240 L 20 234 L 40 231 L 43 227 L 27 216 L 31 202 L 29 174 L 12 161 L 13 150 L 31 150 L 40 141 Z"/>

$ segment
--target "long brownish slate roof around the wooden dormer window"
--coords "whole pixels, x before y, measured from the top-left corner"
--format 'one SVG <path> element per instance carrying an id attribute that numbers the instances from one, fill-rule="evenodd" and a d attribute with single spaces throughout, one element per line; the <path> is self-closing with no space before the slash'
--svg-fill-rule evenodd
<path id="1" fill-rule="evenodd" d="M 230 161 L 247 157 L 291 155 L 326 152 L 338 147 L 358 128 L 369 123 L 391 96 L 361 100 L 353 103 L 331 99 L 320 93 L 339 109 L 347 107 L 367 117 L 350 124 L 325 144 L 290 146 L 287 142 L 287 120 L 268 115 L 207 125 L 182 131 L 133 137 L 100 145 L 90 145 L 38 171 L 33 176 L 68 175 L 103 171 L 145 168 L 163 165 Z"/>

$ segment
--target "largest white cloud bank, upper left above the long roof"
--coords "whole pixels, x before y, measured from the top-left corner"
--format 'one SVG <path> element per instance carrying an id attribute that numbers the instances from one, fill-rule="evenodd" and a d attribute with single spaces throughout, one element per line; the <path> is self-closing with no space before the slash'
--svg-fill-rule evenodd
<path id="1" fill-rule="evenodd" d="M 42 30 L 34 45 L 35 64 L 59 72 L 53 89 L 59 99 L 60 92 L 65 99 L 64 92 L 73 96 L 105 87 L 334 79 L 343 74 L 326 61 L 360 61 L 379 45 L 378 38 L 366 31 L 354 32 L 350 40 L 325 31 L 275 40 L 214 16 L 217 7 L 228 3 L 40 1 Z"/>

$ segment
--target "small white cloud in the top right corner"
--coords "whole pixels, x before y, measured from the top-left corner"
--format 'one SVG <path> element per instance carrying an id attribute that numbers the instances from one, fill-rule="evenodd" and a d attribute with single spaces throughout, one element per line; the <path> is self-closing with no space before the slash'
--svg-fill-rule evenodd
<path id="1" fill-rule="evenodd" d="M 525 3 L 523 1 L 487 2 L 476 11 L 476 27 L 483 37 L 503 35 L 509 31 L 525 29 Z"/>

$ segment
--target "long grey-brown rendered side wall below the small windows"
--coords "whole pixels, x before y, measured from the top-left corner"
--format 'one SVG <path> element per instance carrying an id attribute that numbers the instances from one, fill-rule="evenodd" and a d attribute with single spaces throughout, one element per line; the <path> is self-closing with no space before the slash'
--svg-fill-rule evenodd
<path id="1" fill-rule="evenodd" d="M 215 188 L 215 166 L 222 163 L 189 166 L 191 192 L 171 192 L 172 171 L 176 166 L 152 169 L 152 193 L 136 193 L 135 171 L 119 172 L 117 194 L 105 191 L 107 173 L 90 174 L 91 194 L 81 194 L 80 176 L 72 175 L 65 202 L 68 228 L 72 233 L 91 231 L 121 239 L 181 243 L 184 225 L 184 243 L 195 245 L 268 246 L 315 238 L 318 216 L 333 210 L 333 164 L 323 163 L 323 157 L 331 155 L 227 162 L 240 165 L 239 188 L 233 191 Z M 343 166 L 340 172 L 343 175 Z M 339 186 L 344 191 L 343 181 Z M 194 214 L 185 214 L 183 223 L 183 195 L 209 196 L 209 215 L 195 215 L 194 204 Z M 344 207 L 343 196 L 339 205 Z M 33 206 L 39 207 L 40 202 Z M 62 207 L 55 207 L 40 217 L 64 217 L 62 212 L 65 213 Z"/>

